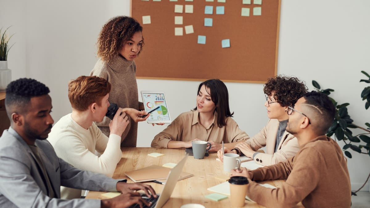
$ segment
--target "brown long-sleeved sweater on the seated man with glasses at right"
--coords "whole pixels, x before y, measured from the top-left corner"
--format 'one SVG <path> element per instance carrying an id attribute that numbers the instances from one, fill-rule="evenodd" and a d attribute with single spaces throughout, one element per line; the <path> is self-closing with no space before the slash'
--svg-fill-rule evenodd
<path id="1" fill-rule="evenodd" d="M 293 207 L 302 201 L 306 208 L 349 208 L 351 184 L 347 162 L 337 142 L 322 135 L 299 148 L 286 162 L 250 171 L 253 181 L 286 181 L 276 189 L 251 181 L 247 186 L 249 198 L 265 207 Z"/>

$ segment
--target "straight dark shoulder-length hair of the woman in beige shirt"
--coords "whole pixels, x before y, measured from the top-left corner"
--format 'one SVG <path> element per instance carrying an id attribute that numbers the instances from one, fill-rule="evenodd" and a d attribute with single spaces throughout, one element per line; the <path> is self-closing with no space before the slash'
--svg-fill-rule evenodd
<path id="1" fill-rule="evenodd" d="M 210 92 L 207 91 L 207 93 L 211 95 L 211 99 L 216 105 L 217 124 L 219 128 L 222 128 L 226 125 L 226 117 L 232 117 L 234 114 L 230 112 L 228 88 L 225 83 L 219 79 L 206 80 L 199 84 L 198 91 L 196 92 L 197 94 L 203 85 L 210 90 Z M 196 110 L 196 107 L 194 110 Z"/>

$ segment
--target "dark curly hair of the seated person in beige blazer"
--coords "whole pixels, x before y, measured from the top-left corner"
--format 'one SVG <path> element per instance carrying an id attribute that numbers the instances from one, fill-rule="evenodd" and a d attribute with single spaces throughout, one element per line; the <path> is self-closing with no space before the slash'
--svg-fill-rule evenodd
<path id="1" fill-rule="evenodd" d="M 297 100 L 307 93 L 308 88 L 296 77 L 275 76 L 269 78 L 263 87 L 263 92 L 271 96 L 275 92 L 274 98 L 282 107 L 294 106 Z"/>

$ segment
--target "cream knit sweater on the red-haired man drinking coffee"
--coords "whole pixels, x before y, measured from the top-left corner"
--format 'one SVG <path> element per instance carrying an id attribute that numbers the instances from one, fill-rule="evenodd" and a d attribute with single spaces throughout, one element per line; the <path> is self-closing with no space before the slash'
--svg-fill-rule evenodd
<path id="1" fill-rule="evenodd" d="M 121 160 L 121 137 L 102 134 L 94 123 L 85 129 L 78 125 L 71 114 L 62 117 L 51 129 L 48 141 L 57 156 L 81 170 L 88 170 L 112 177 L 117 163 Z M 95 150 L 101 153 L 95 155 Z M 81 197 L 81 190 L 61 187 L 62 199 Z"/>

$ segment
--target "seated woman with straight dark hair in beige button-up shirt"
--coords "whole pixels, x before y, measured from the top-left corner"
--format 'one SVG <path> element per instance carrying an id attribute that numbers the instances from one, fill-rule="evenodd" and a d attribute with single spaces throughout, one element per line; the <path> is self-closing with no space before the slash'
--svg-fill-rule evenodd
<path id="1" fill-rule="evenodd" d="M 198 87 L 194 110 L 180 114 L 168 127 L 157 134 L 151 146 L 157 148 L 192 147 L 191 142 L 202 140 L 211 143 L 210 151 L 221 149 L 249 138 L 231 118 L 229 93 L 218 79 L 207 80 Z"/>

